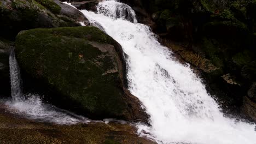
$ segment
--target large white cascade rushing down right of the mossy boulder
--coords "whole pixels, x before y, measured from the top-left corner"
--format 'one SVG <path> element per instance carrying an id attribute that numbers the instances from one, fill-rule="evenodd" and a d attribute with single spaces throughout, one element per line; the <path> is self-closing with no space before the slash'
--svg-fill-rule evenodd
<path id="1" fill-rule="evenodd" d="M 82 13 L 90 22 L 99 23 L 128 56 L 129 89 L 146 107 L 152 125 L 138 124 L 138 132 L 159 143 L 256 143 L 255 125 L 224 117 L 189 65 L 177 62 L 148 26 L 136 23 L 135 15 L 130 15 L 135 23 L 124 16 L 117 19 L 120 7 L 129 6 L 103 1 L 97 14 Z"/>

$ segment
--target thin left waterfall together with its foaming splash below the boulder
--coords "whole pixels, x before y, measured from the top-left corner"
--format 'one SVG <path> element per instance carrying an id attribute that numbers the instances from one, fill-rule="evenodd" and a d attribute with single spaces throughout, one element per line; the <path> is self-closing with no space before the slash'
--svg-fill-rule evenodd
<path id="1" fill-rule="evenodd" d="M 15 58 L 14 47 L 9 56 L 10 84 L 12 100 L 5 101 L 11 112 L 18 113 L 37 121 L 53 122 L 57 124 L 86 123 L 85 117 L 75 115 L 53 105 L 44 104 L 37 94 L 22 94 L 20 68 Z"/>

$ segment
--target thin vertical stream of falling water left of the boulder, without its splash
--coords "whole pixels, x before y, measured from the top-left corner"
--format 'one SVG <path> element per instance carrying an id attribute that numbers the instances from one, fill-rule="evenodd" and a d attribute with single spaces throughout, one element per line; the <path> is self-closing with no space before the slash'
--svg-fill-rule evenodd
<path id="1" fill-rule="evenodd" d="M 14 47 L 10 48 L 9 56 L 11 97 L 14 101 L 22 99 L 20 68 L 15 57 Z"/>

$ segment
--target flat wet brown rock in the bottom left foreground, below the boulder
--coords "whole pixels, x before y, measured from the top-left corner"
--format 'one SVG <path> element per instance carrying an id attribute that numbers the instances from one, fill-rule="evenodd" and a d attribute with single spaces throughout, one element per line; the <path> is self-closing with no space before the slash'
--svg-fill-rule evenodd
<path id="1" fill-rule="evenodd" d="M 90 122 L 76 125 L 40 123 L 13 115 L 0 104 L 1 143 L 145 143 L 129 124 Z"/>

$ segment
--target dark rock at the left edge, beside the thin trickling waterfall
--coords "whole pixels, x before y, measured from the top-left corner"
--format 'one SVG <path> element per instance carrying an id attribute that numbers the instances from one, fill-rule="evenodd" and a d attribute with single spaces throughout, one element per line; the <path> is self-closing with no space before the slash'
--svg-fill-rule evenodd
<path id="1" fill-rule="evenodd" d="M 13 45 L 10 41 L 0 39 L 0 97 L 10 95 L 9 80 L 9 49 Z"/>

